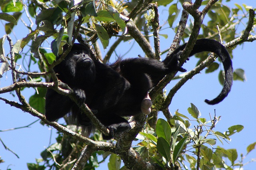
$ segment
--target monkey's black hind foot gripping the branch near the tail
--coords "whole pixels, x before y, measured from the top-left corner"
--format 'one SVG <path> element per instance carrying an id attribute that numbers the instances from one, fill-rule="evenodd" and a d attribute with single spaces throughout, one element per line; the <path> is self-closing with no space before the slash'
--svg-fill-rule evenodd
<path id="1" fill-rule="evenodd" d="M 180 72 L 186 72 L 187 70 L 182 68 L 182 64 L 180 62 L 180 55 L 182 54 L 182 51 L 179 51 L 176 54 L 172 55 L 172 59 L 167 64 L 167 67 L 170 69 L 170 71 L 180 71 Z"/>

